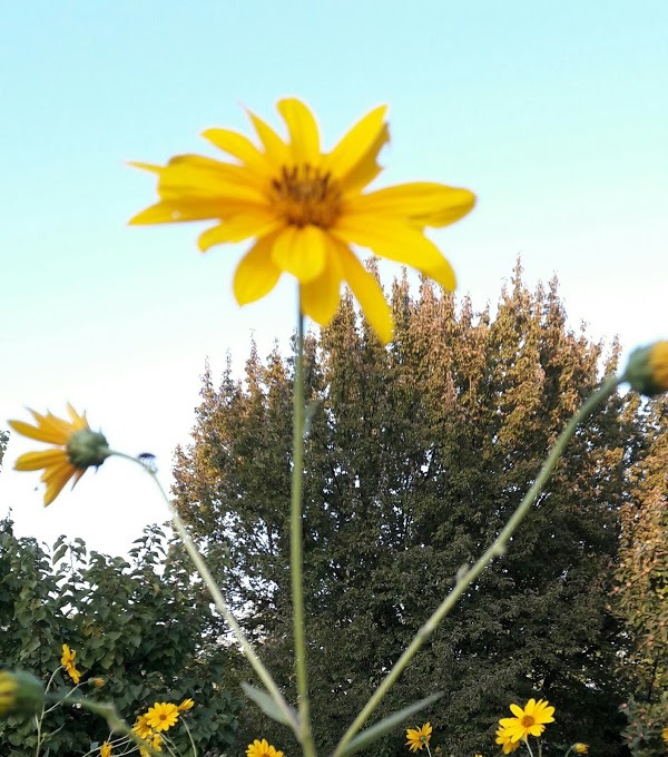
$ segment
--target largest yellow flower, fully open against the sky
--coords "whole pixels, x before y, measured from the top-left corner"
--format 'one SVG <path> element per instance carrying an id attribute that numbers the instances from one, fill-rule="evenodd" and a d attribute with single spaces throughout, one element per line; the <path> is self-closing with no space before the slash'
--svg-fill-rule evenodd
<path id="1" fill-rule="evenodd" d="M 301 100 L 279 100 L 277 109 L 287 140 L 252 112 L 259 147 L 228 129 L 203 132 L 230 163 L 179 155 L 166 166 L 132 164 L 157 174 L 160 199 L 130 224 L 218 220 L 199 237 L 203 252 L 255 239 L 234 276 L 240 305 L 264 297 L 288 273 L 299 283 L 302 312 L 326 325 L 346 282 L 379 338 L 389 342 L 392 317 L 382 288 L 351 245 L 453 289 L 454 273 L 424 229 L 459 220 L 475 197 L 426 181 L 363 193 L 382 170 L 376 158 L 390 139 L 385 106 L 369 112 L 330 153 L 322 151 L 315 118 Z"/>

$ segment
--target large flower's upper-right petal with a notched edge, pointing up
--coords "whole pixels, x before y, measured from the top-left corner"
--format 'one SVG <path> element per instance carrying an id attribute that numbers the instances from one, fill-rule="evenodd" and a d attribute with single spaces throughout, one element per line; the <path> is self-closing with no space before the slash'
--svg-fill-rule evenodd
<path id="1" fill-rule="evenodd" d="M 384 122 L 387 106 L 366 114 L 323 159 L 324 170 L 331 170 L 345 190 L 366 186 L 381 171 L 376 158 L 390 139 Z"/>

